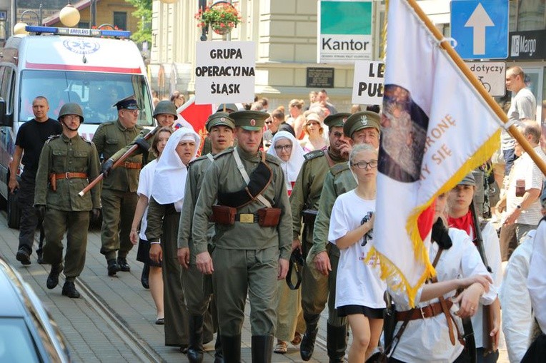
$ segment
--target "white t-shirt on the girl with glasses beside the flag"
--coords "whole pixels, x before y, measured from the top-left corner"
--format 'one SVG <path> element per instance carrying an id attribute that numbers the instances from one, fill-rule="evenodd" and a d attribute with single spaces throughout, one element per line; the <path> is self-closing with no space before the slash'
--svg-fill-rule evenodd
<path id="1" fill-rule="evenodd" d="M 375 200 L 364 200 L 354 190 L 339 195 L 330 218 L 328 240 L 334 245 L 347 232 L 359 227 L 367 213 L 375 212 Z M 354 245 L 339 250 L 337 265 L 335 307 L 359 305 L 383 309 L 383 294 L 387 288 L 379 279 L 379 261 L 364 259 L 372 245 L 369 238 L 364 246 L 364 237 Z"/>

